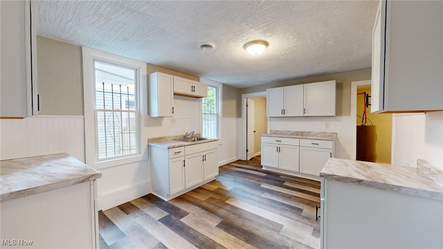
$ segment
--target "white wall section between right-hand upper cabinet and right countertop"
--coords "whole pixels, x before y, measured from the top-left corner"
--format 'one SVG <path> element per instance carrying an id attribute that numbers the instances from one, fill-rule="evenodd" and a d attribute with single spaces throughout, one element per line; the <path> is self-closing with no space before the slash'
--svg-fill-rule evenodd
<path id="1" fill-rule="evenodd" d="M 416 166 L 417 159 L 443 169 L 443 111 L 392 116 L 391 163 Z"/>

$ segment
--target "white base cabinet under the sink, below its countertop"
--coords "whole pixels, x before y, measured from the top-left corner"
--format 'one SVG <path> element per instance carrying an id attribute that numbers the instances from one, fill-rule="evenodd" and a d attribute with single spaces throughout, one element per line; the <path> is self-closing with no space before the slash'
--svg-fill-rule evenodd
<path id="1" fill-rule="evenodd" d="M 218 142 L 176 148 L 150 146 L 152 193 L 169 201 L 213 181 L 218 171 Z"/>

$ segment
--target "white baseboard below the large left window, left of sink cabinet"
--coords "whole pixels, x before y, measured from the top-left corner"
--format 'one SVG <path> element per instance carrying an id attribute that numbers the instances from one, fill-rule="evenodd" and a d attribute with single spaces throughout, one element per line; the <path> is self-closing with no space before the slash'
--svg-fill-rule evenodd
<path id="1" fill-rule="evenodd" d="M 108 210 L 151 193 L 151 181 L 143 181 L 118 190 L 100 194 L 97 199 L 98 210 Z"/>

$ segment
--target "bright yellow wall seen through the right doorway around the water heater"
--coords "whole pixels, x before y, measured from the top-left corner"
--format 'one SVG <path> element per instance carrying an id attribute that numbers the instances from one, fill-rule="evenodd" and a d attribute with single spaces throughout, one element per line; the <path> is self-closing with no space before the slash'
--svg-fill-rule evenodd
<path id="1" fill-rule="evenodd" d="M 371 95 L 371 88 L 359 88 L 357 93 L 365 91 Z M 363 95 L 357 95 L 357 115 L 363 116 Z M 374 122 L 377 141 L 375 142 L 375 154 L 377 163 L 390 163 L 391 140 L 392 140 L 392 114 L 391 113 L 371 113 L 371 107 L 366 109 L 368 118 Z M 366 124 L 370 125 L 370 120 Z M 357 117 L 356 124 L 361 124 L 361 118 Z"/>

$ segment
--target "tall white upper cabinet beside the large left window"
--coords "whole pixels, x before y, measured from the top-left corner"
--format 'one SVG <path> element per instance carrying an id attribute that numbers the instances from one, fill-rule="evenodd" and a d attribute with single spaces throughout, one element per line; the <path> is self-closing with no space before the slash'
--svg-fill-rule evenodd
<path id="1" fill-rule="evenodd" d="M 166 73 L 151 73 L 149 77 L 150 116 L 172 117 L 174 114 L 174 78 Z"/>

